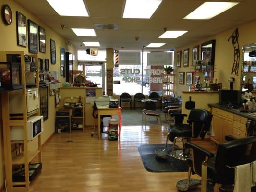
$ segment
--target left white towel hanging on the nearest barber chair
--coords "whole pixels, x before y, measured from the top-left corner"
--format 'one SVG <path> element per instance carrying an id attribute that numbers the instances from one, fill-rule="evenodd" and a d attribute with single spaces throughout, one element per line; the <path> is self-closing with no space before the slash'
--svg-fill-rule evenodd
<path id="1" fill-rule="evenodd" d="M 235 167 L 234 192 L 251 192 L 252 175 L 251 164 L 247 163 Z"/>

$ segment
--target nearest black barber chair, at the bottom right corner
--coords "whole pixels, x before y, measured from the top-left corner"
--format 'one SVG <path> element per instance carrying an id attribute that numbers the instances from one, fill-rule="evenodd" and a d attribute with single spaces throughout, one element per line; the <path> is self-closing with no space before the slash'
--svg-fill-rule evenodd
<path id="1" fill-rule="evenodd" d="M 177 182 L 180 191 L 187 191 L 201 184 L 201 192 L 207 191 L 207 178 L 215 185 L 214 191 L 219 192 L 220 185 L 234 184 L 234 167 L 256 160 L 256 137 L 235 139 L 226 136 L 228 142 L 219 144 L 217 153 L 193 144 L 186 143 L 185 147 L 191 149 L 192 157 L 187 160 L 189 165 L 188 178 Z M 202 181 L 190 179 L 190 175 L 198 174 Z"/>

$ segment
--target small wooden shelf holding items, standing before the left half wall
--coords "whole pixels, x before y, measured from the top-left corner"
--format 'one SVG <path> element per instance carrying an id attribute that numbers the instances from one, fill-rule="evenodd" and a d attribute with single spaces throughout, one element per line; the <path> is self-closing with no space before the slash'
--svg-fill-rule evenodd
<path id="1" fill-rule="evenodd" d="M 79 99 L 80 98 L 80 99 Z M 79 101 L 80 100 L 80 101 Z M 65 106 L 65 103 L 81 103 L 82 106 Z M 71 116 L 71 129 L 85 129 L 85 97 L 83 96 L 74 96 L 74 97 L 65 97 L 63 102 L 63 109 L 72 109 L 72 116 Z M 74 111 L 78 109 L 81 110 L 82 116 L 75 116 Z M 82 120 L 79 120 L 82 119 Z M 80 123 L 82 121 L 83 127 L 73 127 L 73 123 Z"/>

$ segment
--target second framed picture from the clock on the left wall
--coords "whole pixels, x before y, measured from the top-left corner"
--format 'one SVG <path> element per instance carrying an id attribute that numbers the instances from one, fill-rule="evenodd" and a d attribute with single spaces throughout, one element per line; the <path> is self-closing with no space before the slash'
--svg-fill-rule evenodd
<path id="1" fill-rule="evenodd" d="M 37 24 L 28 20 L 28 51 L 37 54 Z"/>

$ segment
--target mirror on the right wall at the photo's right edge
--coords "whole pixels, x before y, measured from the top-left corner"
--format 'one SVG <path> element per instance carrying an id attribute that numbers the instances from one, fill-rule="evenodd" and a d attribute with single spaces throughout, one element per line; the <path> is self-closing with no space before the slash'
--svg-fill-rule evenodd
<path id="1" fill-rule="evenodd" d="M 256 92 L 256 43 L 244 45 L 241 67 L 242 91 Z"/>

